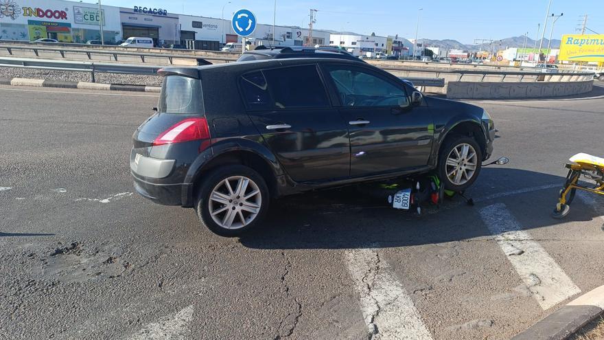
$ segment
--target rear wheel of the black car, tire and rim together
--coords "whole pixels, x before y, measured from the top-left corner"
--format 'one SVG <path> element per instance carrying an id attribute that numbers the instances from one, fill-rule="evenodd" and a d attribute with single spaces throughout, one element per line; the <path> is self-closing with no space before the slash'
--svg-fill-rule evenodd
<path id="1" fill-rule="evenodd" d="M 246 187 L 243 193 L 240 185 Z M 203 177 L 195 207 L 202 225 L 233 237 L 262 223 L 269 200 L 268 186 L 258 172 L 241 165 L 221 166 Z"/>

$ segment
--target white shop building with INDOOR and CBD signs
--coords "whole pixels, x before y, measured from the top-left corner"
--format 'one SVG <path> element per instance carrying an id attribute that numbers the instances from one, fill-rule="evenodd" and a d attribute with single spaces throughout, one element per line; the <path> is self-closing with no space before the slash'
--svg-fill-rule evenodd
<path id="1" fill-rule="evenodd" d="M 100 40 L 103 23 L 106 43 L 121 39 L 119 9 L 93 4 L 45 0 L 2 0 L 0 3 L 0 39 L 34 41 L 51 38 L 61 43 L 86 43 Z"/>

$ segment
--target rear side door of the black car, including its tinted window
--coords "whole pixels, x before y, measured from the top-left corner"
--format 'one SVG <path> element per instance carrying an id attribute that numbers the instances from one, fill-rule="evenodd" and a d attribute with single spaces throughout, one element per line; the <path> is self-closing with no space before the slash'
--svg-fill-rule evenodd
<path id="1" fill-rule="evenodd" d="M 246 73 L 240 87 L 253 124 L 294 181 L 349 176 L 347 122 L 315 64 Z"/>

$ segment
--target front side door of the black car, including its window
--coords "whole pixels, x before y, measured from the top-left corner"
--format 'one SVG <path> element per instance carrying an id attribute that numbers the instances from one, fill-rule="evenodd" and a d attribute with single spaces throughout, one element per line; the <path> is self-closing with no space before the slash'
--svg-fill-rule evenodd
<path id="1" fill-rule="evenodd" d="M 369 67 L 325 65 L 323 69 L 349 124 L 352 177 L 428 166 L 432 115 L 425 104 L 410 103 L 402 82 Z"/>

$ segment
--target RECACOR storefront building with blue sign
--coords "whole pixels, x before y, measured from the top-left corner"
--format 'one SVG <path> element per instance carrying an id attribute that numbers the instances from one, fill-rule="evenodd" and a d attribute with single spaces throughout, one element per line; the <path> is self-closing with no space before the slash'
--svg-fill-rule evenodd
<path id="1" fill-rule="evenodd" d="M 120 8 L 119 18 L 124 39 L 130 36 L 152 38 L 156 47 L 180 43 L 178 14 L 161 8 L 133 6 Z"/>

